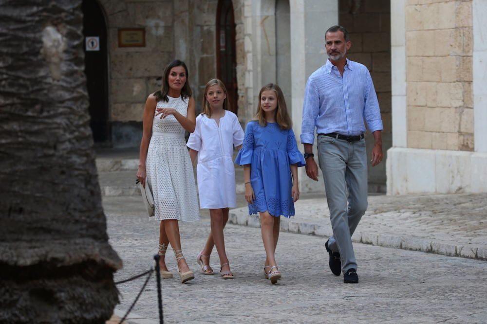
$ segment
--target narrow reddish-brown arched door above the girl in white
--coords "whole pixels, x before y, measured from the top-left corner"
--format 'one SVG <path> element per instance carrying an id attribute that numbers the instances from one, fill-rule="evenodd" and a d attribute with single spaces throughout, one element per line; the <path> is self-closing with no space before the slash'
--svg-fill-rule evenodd
<path id="1" fill-rule="evenodd" d="M 232 0 L 218 0 L 216 17 L 216 71 L 227 90 L 230 109 L 238 111 L 235 20 Z"/>

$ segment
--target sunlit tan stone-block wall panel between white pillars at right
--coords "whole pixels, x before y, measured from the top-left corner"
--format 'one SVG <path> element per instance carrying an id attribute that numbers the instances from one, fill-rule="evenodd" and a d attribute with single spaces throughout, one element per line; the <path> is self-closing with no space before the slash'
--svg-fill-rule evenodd
<path id="1" fill-rule="evenodd" d="M 472 2 L 408 0 L 408 147 L 472 151 Z"/>

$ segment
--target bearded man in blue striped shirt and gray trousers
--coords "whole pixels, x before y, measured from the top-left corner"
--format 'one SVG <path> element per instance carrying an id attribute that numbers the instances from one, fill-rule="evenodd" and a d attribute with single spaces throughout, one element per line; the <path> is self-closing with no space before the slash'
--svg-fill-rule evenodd
<path id="1" fill-rule="evenodd" d="M 306 174 L 318 181 L 314 160 L 315 127 L 318 162 L 325 182 L 333 236 L 325 243 L 329 266 L 345 283 L 358 283 L 352 234 L 367 209 L 367 152 L 364 120 L 374 134 L 372 166 L 382 161 L 382 119 L 374 84 L 364 65 L 347 59 L 352 46 L 341 26 L 325 33 L 326 64 L 306 83 L 301 125 Z"/>

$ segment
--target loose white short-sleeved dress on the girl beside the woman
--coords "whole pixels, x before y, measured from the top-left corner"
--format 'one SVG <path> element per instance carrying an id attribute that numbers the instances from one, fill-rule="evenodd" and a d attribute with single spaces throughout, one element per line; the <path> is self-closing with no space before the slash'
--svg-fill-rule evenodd
<path id="1" fill-rule="evenodd" d="M 196 175 L 201 208 L 237 206 L 233 147 L 243 141 L 244 130 L 233 112 L 225 110 L 219 126 L 204 114 L 196 117 L 187 147 L 198 151 Z"/>

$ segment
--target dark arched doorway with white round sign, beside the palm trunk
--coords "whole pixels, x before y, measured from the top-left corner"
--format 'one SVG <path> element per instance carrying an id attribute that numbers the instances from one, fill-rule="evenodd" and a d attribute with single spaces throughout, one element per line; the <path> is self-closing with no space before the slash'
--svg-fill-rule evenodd
<path id="1" fill-rule="evenodd" d="M 109 143 L 107 25 L 96 0 L 83 0 L 81 8 L 85 36 L 83 47 L 86 85 L 90 97 L 90 126 L 95 143 Z M 90 37 L 88 43 L 86 37 Z"/>

